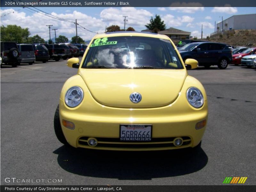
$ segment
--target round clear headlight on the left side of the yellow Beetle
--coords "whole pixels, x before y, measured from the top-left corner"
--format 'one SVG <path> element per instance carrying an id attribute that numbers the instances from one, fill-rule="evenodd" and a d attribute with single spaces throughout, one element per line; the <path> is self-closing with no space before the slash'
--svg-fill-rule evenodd
<path id="1" fill-rule="evenodd" d="M 84 98 L 84 92 L 80 87 L 74 86 L 68 89 L 65 95 L 65 103 L 68 107 L 78 106 Z"/>

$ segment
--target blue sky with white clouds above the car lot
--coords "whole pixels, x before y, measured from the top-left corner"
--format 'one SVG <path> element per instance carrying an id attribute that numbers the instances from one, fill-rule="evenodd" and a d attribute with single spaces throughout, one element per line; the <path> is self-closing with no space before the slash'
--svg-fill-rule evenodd
<path id="1" fill-rule="evenodd" d="M 201 38 L 201 27 L 203 24 L 203 37 L 209 36 L 214 32 L 214 22 L 216 24 L 223 20 L 240 14 L 256 13 L 255 7 L 2 7 L 1 8 L 1 26 L 18 25 L 22 28 L 28 28 L 31 35 L 39 35 L 45 40 L 49 40 L 49 28 L 51 26 L 51 39 L 56 36 L 64 35 L 71 40 L 77 35 L 84 40 L 90 40 L 96 33 L 104 33 L 105 27 L 118 25 L 124 28 L 124 17 L 126 19 L 125 28 L 132 27 L 136 31 L 146 29 L 145 25 L 149 23 L 151 17 L 160 15 L 164 20 L 166 28 L 178 28 L 191 32 L 191 36 Z M 38 12 L 36 12 L 36 11 Z M 41 12 L 41 13 L 39 13 Z M 46 15 L 47 13 L 69 20 L 53 19 Z M 82 27 L 81 27 L 82 26 Z M 86 28 L 86 29 L 84 29 Z M 88 31 L 90 30 L 90 31 Z"/>

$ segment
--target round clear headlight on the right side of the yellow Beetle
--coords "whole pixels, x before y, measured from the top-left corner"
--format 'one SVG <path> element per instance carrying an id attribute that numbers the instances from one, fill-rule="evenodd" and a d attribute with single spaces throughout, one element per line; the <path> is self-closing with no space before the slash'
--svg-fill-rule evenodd
<path id="1" fill-rule="evenodd" d="M 194 108 L 200 108 L 204 104 L 203 94 L 196 87 L 190 87 L 187 91 L 187 99 Z"/>

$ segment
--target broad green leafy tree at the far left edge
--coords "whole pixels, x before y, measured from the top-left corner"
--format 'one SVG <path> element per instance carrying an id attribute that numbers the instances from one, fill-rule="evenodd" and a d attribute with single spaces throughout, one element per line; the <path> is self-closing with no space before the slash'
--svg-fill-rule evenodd
<path id="1" fill-rule="evenodd" d="M 1 41 L 14 41 L 16 43 L 28 43 L 30 32 L 28 28 L 21 28 L 17 25 L 1 26 Z"/>

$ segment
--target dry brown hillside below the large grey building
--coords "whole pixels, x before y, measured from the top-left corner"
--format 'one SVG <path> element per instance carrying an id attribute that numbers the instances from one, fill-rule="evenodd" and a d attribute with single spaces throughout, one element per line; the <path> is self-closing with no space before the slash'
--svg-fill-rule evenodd
<path id="1" fill-rule="evenodd" d="M 256 47 L 256 30 L 234 30 L 226 31 L 223 35 L 215 34 L 210 38 L 202 39 L 212 42 L 230 44 L 234 46 Z M 173 41 L 178 44 L 179 41 Z"/>

